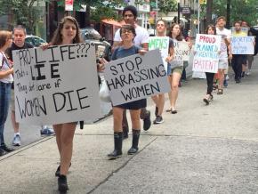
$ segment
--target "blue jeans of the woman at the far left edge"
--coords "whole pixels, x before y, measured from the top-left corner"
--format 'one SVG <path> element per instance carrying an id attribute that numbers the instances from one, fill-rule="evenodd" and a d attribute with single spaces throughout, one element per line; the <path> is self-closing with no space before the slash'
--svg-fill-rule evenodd
<path id="1" fill-rule="evenodd" d="M 0 82 L 0 145 L 4 145 L 4 123 L 8 116 L 12 84 Z"/>

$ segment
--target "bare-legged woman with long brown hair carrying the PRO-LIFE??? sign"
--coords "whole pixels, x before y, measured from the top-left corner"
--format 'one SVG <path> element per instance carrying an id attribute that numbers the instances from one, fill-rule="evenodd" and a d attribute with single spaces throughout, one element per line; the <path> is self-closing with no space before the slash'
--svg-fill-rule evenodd
<path id="1" fill-rule="evenodd" d="M 62 45 L 79 43 L 83 43 L 83 40 L 80 36 L 77 20 L 71 16 L 64 17 L 54 32 L 51 44 Z M 44 45 L 43 49 L 47 48 L 49 45 L 50 44 Z M 52 126 L 56 134 L 56 142 L 60 153 L 60 166 L 58 166 L 55 172 L 55 175 L 58 176 L 58 190 L 66 192 L 69 190 L 67 174 L 69 172 L 69 166 L 71 166 L 73 138 L 77 122 L 63 123 Z"/>

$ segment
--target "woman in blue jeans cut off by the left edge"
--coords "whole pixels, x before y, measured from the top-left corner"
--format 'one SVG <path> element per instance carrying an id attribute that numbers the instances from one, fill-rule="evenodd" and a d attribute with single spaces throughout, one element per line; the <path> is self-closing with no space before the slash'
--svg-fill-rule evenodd
<path id="1" fill-rule="evenodd" d="M 13 82 L 12 64 L 8 62 L 4 52 L 11 44 L 12 32 L 0 30 L 0 157 L 13 150 L 4 142 L 4 124 L 8 116 Z"/>

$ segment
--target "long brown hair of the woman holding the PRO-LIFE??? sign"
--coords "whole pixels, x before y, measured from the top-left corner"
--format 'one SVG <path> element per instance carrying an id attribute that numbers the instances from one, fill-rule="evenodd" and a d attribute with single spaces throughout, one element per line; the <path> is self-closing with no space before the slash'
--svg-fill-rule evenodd
<path id="1" fill-rule="evenodd" d="M 53 45 L 60 45 L 61 44 L 62 36 L 60 34 L 60 31 L 62 30 L 62 28 L 64 26 L 64 23 L 67 22 L 67 21 L 70 21 L 70 22 L 74 23 L 76 28 L 77 28 L 77 34 L 76 34 L 75 38 L 73 39 L 73 44 L 83 43 L 83 40 L 80 36 L 80 28 L 79 28 L 77 20 L 74 17 L 66 16 L 60 21 L 57 29 L 54 31 L 54 35 L 53 35 L 52 40 L 51 40 L 51 43 Z"/>

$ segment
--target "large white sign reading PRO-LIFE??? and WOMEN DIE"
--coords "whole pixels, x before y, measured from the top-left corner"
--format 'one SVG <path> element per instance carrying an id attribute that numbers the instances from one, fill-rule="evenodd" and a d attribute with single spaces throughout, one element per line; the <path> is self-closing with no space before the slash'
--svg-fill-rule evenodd
<path id="1" fill-rule="evenodd" d="M 12 55 L 18 122 L 52 125 L 100 117 L 94 44 L 24 49 Z"/>

